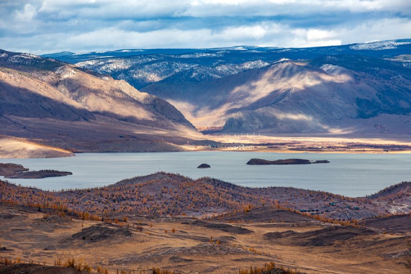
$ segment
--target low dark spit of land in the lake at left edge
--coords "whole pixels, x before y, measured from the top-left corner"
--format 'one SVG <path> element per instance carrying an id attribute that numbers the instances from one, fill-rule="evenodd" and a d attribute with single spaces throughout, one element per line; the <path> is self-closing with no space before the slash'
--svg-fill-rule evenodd
<path id="1" fill-rule="evenodd" d="M 72 173 L 68 171 L 28 170 L 28 168 L 25 168 L 22 165 L 16 165 L 15 163 L 0 163 L 0 176 L 4 176 L 5 178 L 9 179 L 40 179 L 47 177 L 61 177 L 72 175 Z"/>

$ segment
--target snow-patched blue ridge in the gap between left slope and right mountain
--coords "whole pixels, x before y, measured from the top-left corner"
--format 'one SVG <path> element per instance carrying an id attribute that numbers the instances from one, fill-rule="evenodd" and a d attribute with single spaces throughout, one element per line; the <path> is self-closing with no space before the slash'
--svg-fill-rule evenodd
<path id="1" fill-rule="evenodd" d="M 221 60 L 221 58 L 223 58 Z M 76 63 L 76 66 L 108 74 L 116 79 L 126 80 L 136 88 L 151 83 L 202 82 L 233 75 L 269 63 L 250 56 L 228 59 L 226 54 L 193 53 L 179 56 L 139 55 L 122 58 L 92 59 Z M 271 60 L 271 59 L 270 59 Z"/>

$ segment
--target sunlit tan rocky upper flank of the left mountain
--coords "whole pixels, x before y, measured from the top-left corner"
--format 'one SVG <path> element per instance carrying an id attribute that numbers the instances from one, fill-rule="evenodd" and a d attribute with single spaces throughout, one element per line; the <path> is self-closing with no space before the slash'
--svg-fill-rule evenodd
<path id="1" fill-rule="evenodd" d="M 48 82 L 93 113 L 150 126 L 166 127 L 172 122 L 192 126 L 170 103 L 141 93 L 123 80 L 96 77 L 67 65 L 55 75 L 58 78 Z"/>

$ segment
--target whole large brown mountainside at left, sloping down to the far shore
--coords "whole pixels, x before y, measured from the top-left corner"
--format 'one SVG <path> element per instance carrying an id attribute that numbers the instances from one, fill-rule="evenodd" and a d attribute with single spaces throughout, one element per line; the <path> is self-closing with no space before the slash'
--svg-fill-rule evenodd
<path id="1" fill-rule="evenodd" d="M 0 50 L 1 133 L 71 151 L 176 151 L 197 136 L 170 103 L 125 81 Z"/>

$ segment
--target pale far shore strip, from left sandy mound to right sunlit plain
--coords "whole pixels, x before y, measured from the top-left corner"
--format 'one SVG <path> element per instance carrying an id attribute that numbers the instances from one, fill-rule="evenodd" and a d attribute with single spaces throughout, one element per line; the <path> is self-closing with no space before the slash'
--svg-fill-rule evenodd
<path id="1" fill-rule="evenodd" d="M 0 138 L 0 158 L 58 158 L 75 156 L 75 153 L 104 152 L 186 152 L 186 151 L 242 151 L 267 153 L 352 153 L 352 154 L 411 154 L 411 136 L 329 136 L 329 135 L 278 135 L 232 136 L 201 135 L 188 144 L 158 142 L 158 147 L 148 150 L 129 145 L 124 139 L 115 140 L 115 147 L 92 151 L 68 151 L 26 138 Z M 110 142 L 108 142 L 110 141 Z M 166 143 L 168 145 L 161 145 Z M 170 150 L 170 148 L 172 150 Z"/>

